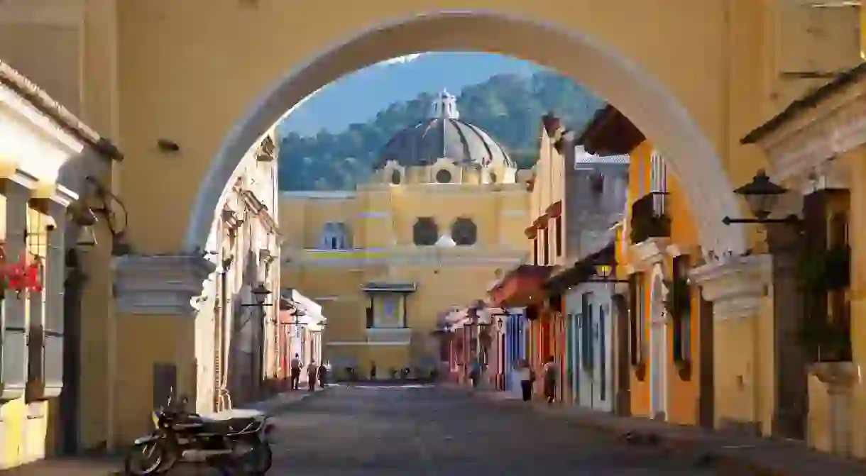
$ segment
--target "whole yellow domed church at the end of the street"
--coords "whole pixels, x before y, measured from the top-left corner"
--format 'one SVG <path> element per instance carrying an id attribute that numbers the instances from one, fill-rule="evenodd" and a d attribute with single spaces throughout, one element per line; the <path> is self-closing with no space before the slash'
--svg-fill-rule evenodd
<path id="1" fill-rule="evenodd" d="M 443 92 L 385 145 L 370 183 L 281 194 L 282 283 L 322 306 L 337 376 L 437 369 L 440 314 L 526 255 L 527 173 Z"/>

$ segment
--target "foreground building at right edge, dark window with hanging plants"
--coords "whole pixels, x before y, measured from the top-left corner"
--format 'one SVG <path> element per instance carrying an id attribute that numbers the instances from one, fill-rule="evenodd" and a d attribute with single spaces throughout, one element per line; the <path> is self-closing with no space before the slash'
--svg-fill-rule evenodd
<path id="1" fill-rule="evenodd" d="M 811 447 L 866 457 L 863 328 L 864 68 L 837 76 L 743 139 L 770 160 L 790 190 L 779 215 L 797 214 L 803 236 L 798 280 Z M 811 105 L 809 108 L 803 105 Z M 841 252 L 841 253 L 840 253 Z M 818 285 L 818 286 L 815 286 Z"/>

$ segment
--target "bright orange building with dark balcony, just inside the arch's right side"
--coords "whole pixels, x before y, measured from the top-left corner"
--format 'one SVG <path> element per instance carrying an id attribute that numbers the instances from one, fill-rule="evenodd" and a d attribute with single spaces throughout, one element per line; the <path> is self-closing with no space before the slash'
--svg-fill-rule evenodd
<path id="1" fill-rule="evenodd" d="M 599 114 L 608 116 L 601 124 L 619 125 L 620 136 L 643 138 L 613 107 Z M 644 138 L 626 146 L 629 206 L 618 230 L 617 273 L 629 280 L 629 329 L 619 334 L 628 338 L 619 342 L 620 355 L 628 358 L 619 369 L 629 376 L 619 382 L 630 390 L 631 415 L 712 427 L 712 308 L 688 280 L 689 270 L 701 264 L 695 222 L 655 145 Z M 585 148 L 611 153 L 591 139 Z"/>

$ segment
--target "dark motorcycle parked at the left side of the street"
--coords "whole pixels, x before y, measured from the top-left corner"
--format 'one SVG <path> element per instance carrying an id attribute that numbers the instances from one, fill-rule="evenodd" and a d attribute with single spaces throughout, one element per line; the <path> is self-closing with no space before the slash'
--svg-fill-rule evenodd
<path id="1" fill-rule="evenodd" d="M 260 411 L 199 415 L 171 408 L 170 398 L 167 408 L 153 412 L 152 420 L 152 434 L 136 440 L 126 456 L 126 474 L 167 473 L 178 463 L 206 464 L 225 476 L 260 476 L 270 469 L 268 434 L 274 426 Z"/>

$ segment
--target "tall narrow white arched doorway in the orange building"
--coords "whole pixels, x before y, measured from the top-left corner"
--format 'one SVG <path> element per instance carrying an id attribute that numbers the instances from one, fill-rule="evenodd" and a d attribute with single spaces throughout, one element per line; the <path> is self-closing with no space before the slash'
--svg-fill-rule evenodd
<path id="1" fill-rule="evenodd" d="M 662 266 L 653 268 L 650 288 L 650 416 L 665 420 L 668 414 L 668 315 L 664 299 L 668 290 Z"/>

